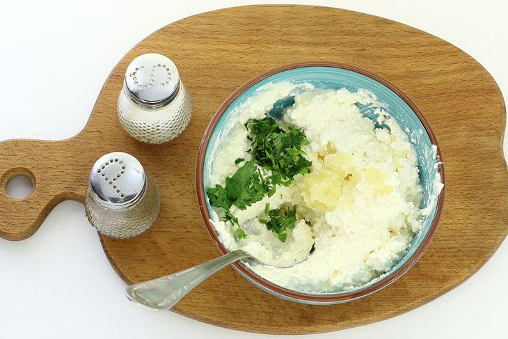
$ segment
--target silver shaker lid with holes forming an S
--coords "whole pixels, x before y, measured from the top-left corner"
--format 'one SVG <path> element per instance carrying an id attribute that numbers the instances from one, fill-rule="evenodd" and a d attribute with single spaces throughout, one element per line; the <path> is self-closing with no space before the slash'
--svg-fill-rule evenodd
<path id="1" fill-rule="evenodd" d="M 167 56 L 143 54 L 127 67 L 125 88 L 136 104 L 150 108 L 161 107 L 178 93 L 180 76 L 176 65 Z"/>

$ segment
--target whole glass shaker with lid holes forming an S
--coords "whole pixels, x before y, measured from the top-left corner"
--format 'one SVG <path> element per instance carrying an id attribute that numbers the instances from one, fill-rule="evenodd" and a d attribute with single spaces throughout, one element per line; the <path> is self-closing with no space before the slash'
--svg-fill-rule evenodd
<path id="1" fill-rule="evenodd" d="M 134 139 L 165 143 L 189 124 L 192 102 L 173 61 L 148 53 L 127 67 L 117 110 L 120 124 Z"/>

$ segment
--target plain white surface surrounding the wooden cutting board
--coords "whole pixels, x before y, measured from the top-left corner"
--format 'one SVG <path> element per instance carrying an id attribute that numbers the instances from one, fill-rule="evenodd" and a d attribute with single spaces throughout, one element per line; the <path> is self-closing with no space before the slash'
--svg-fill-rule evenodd
<path id="1" fill-rule="evenodd" d="M 77 134 L 111 70 L 145 36 L 189 15 L 260 3 L 74 2 L 2 4 L 0 140 L 56 140 Z M 507 98 L 505 0 L 292 3 L 347 8 L 434 34 L 481 63 Z M 310 337 L 507 338 L 507 262 L 505 242 L 475 276 L 427 305 L 376 324 Z M 2 339 L 267 337 L 219 328 L 171 312 L 153 313 L 127 301 L 124 289 L 79 203 L 58 205 L 29 239 L 8 242 L 0 238 Z"/>

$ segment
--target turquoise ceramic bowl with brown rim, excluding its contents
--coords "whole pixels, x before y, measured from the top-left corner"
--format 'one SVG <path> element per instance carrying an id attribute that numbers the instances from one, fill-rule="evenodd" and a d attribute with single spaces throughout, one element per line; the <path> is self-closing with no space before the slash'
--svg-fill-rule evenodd
<path id="1" fill-rule="evenodd" d="M 314 84 L 316 88 L 344 87 L 353 91 L 358 88 L 365 88 L 374 93 L 379 102 L 386 104 L 386 107 L 383 108 L 390 113 L 392 118 L 397 120 L 402 130 L 408 134 L 408 139 L 415 146 L 418 166 L 420 168 L 420 181 L 424 189 L 421 207 L 426 207 L 431 204 L 431 196 L 434 189 L 433 182 L 436 173 L 440 174 L 441 180 L 443 184 L 445 184 L 445 171 L 443 163 L 441 162 L 443 158 L 438 141 L 429 123 L 424 118 L 420 109 L 416 107 L 407 95 L 378 75 L 354 65 L 324 61 L 308 61 L 283 65 L 260 74 L 237 88 L 216 111 L 201 141 L 196 166 L 198 202 L 209 234 L 216 246 L 219 247 L 221 253 L 228 253 L 228 249 L 222 244 L 210 220 L 212 207 L 209 205 L 209 201 L 205 194 L 205 189 L 209 187 L 209 173 L 211 173 L 211 169 L 214 166 L 212 150 L 216 149 L 218 145 L 225 141 L 226 138 L 223 136 L 227 136 L 228 131 L 223 129 L 228 125 L 227 123 L 230 119 L 235 118 L 235 107 L 244 102 L 248 97 L 255 95 L 255 90 L 260 88 L 260 86 L 269 82 L 277 83 L 278 81 L 292 81 L 294 83 L 310 82 Z M 365 107 L 360 108 L 360 111 L 362 111 L 364 116 L 374 119 L 374 109 L 375 107 Z M 439 161 L 429 157 L 429 154 L 432 152 L 432 145 L 437 146 L 436 158 L 439 159 Z M 275 285 L 257 276 L 241 261 L 233 264 L 233 267 L 248 281 L 260 287 L 262 290 L 291 301 L 310 304 L 330 304 L 365 297 L 395 281 L 408 271 L 421 257 L 438 229 L 440 216 L 443 212 L 444 198 L 445 187 L 440 191 L 437 201 L 431 204 L 434 205 L 434 207 L 429 216 L 424 217 L 422 230 L 413 238 L 404 258 L 402 258 L 395 267 L 392 267 L 390 271 L 353 290 L 334 293 L 296 292 Z"/>

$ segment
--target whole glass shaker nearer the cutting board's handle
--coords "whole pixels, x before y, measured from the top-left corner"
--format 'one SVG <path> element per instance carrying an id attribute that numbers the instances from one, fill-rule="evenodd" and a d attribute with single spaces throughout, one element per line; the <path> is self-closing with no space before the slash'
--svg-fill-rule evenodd
<path id="1" fill-rule="evenodd" d="M 125 239 L 141 234 L 157 219 L 160 206 L 157 184 L 132 155 L 112 152 L 93 165 L 85 211 L 103 235 Z"/>

